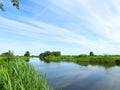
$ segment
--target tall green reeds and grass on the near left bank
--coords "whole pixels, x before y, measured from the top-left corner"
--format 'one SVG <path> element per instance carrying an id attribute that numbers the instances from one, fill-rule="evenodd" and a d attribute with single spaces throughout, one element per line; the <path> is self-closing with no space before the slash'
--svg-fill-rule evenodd
<path id="1" fill-rule="evenodd" d="M 50 90 L 44 75 L 26 63 L 27 57 L 7 59 L 0 57 L 0 90 Z"/>

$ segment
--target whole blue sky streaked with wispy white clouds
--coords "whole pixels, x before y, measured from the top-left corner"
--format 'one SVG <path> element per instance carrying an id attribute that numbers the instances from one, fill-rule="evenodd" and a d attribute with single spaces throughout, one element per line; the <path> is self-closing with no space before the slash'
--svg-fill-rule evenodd
<path id="1" fill-rule="evenodd" d="M 0 53 L 120 54 L 119 0 L 1 0 Z"/>

